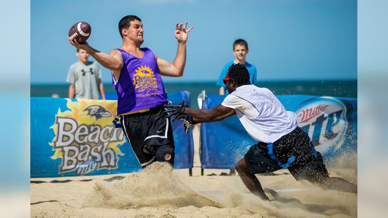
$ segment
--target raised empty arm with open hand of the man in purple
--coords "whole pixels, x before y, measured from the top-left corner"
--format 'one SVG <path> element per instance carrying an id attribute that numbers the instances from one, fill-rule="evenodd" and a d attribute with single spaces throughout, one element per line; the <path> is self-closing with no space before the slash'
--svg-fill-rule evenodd
<path id="1" fill-rule="evenodd" d="M 165 59 L 162 59 L 158 57 L 156 54 L 154 54 L 156 62 L 158 63 L 159 72 L 162 76 L 172 76 L 172 77 L 183 76 L 183 71 L 185 69 L 185 64 L 186 64 L 187 35 L 193 27 L 186 30 L 187 21 L 185 22 L 185 26 L 183 26 L 183 28 L 182 26 L 183 26 L 182 23 L 179 25 L 179 27 L 178 27 L 178 23 L 175 24 L 175 38 L 177 38 L 178 40 L 178 51 L 174 62 L 171 64 Z"/>

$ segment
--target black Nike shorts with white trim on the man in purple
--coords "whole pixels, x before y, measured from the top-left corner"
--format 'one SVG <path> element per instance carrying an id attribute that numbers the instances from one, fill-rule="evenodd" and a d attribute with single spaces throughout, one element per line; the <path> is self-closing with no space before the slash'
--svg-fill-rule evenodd
<path id="1" fill-rule="evenodd" d="M 158 106 L 147 112 L 121 116 L 125 137 L 142 167 L 156 161 L 156 151 L 160 147 L 175 149 L 171 121 L 163 115 L 163 111 L 164 107 Z"/>

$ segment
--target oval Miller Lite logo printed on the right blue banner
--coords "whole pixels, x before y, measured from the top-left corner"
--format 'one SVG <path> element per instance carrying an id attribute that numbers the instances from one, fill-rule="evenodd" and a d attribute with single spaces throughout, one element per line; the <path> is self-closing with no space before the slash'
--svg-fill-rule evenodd
<path id="1" fill-rule="evenodd" d="M 332 97 L 318 97 L 302 103 L 296 111 L 300 126 L 322 154 L 339 149 L 345 142 L 345 105 Z"/>

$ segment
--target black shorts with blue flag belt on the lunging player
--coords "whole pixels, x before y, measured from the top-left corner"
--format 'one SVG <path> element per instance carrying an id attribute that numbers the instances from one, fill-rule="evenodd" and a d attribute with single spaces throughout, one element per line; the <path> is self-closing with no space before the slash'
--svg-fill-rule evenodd
<path id="1" fill-rule="evenodd" d="M 268 173 L 287 168 L 296 180 L 329 177 L 322 156 L 299 126 L 273 144 L 259 142 L 244 156 L 250 173 Z"/>

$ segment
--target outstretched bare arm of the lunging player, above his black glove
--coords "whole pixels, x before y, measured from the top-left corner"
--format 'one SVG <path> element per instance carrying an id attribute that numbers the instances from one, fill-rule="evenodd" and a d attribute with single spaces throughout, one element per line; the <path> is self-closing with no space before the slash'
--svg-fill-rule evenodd
<path id="1" fill-rule="evenodd" d="M 236 111 L 230 107 L 225 107 L 222 104 L 218 104 L 212 109 L 192 109 L 190 107 L 185 108 L 185 114 L 192 116 L 194 123 L 210 123 L 220 121 L 236 114 Z"/>

